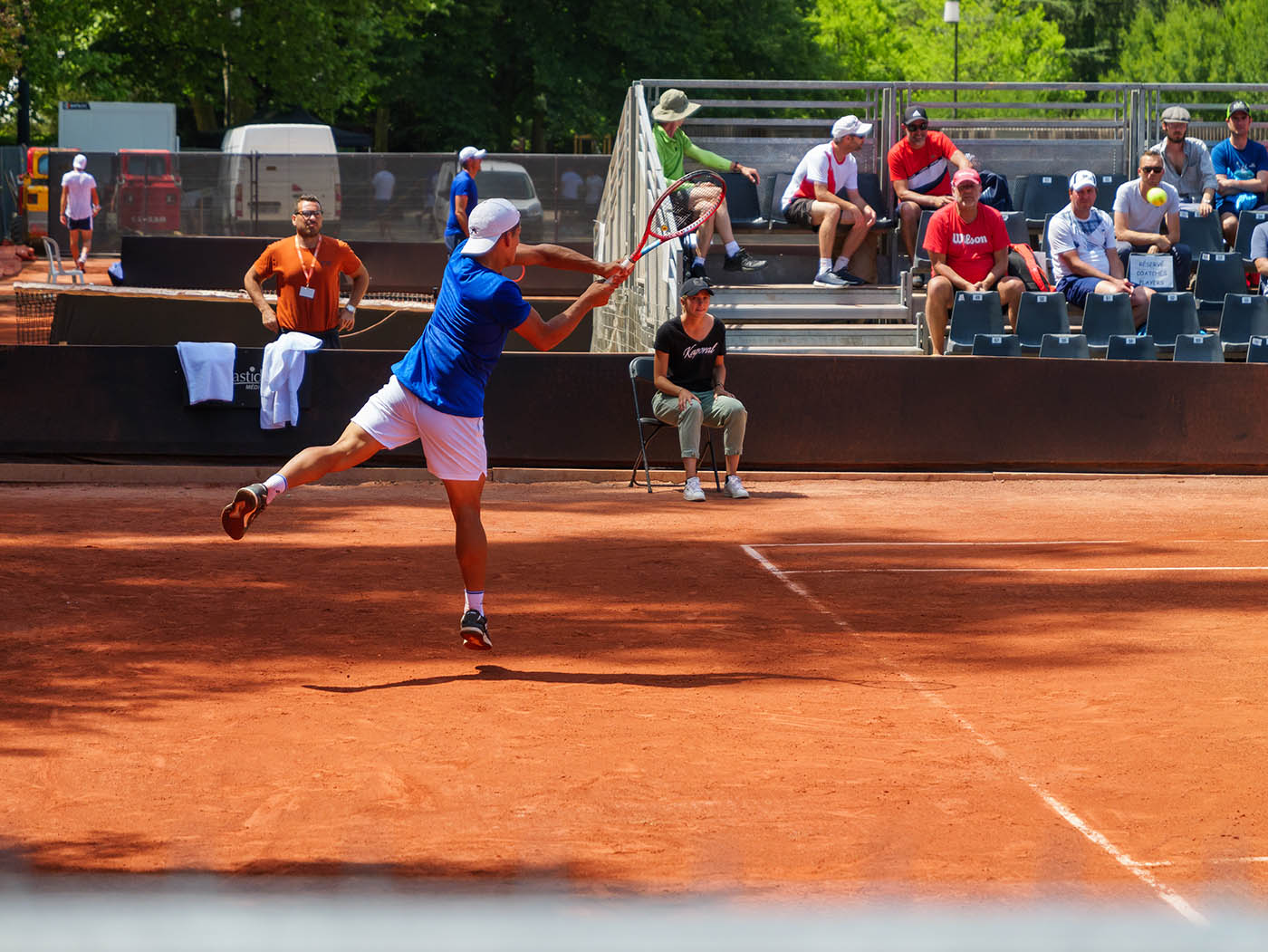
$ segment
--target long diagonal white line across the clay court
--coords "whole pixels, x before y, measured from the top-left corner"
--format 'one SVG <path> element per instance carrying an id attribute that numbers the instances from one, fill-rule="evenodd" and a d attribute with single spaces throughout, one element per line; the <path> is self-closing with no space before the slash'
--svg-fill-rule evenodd
<path id="1" fill-rule="evenodd" d="M 935 707 L 940 707 L 951 720 L 954 720 L 962 730 L 965 730 L 974 740 L 976 740 L 987 752 L 994 757 L 999 763 L 1006 766 L 1012 773 L 1030 787 L 1040 800 L 1047 804 L 1058 816 L 1069 823 L 1074 829 L 1077 829 L 1084 838 L 1101 847 L 1106 853 L 1113 858 L 1120 866 L 1122 866 L 1127 872 L 1135 876 L 1137 880 L 1144 882 L 1154 894 L 1161 899 L 1167 905 L 1174 909 L 1177 913 L 1183 915 L 1194 925 L 1210 925 L 1210 922 L 1205 915 L 1202 915 L 1197 909 L 1194 909 L 1189 903 L 1181 896 L 1178 892 L 1172 890 L 1165 884 L 1160 882 L 1150 871 L 1146 868 L 1145 863 L 1136 862 L 1127 853 L 1121 851 L 1113 843 L 1111 843 L 1104 834 L 1093 829 L 1088 823 L 1083 820 L 1074 810 L 1058 800 L 1047 788 L 1040 783 L 1037 780 L 1028 776 L 1021 767 L 1018 767 L 1012 758 L 1000 748 L 994 740 L 988 738 L 980 730 L 978 730 L 971 723 L 969 723 L 959 711 L 956 711 L 951 705 L 943 701 L 937 693 L 927 688 L 921 687 L 921 683 L 908 674 L 903 668 L 898 666 L 896 662 L 890 659 L 888 655 L 883 654 L 874 644 L 858 634 L 857 630 L 844 619 L 841 619 L 836 612 L 828 608 L 823 602 L 810 595 L 801 584 L 789 578 L 787 573 L 782 572 L 775 563 L 757 551 L 756 546 L 743 545 L 741 546 L 749 558 L 752 558 L 758 565 L 770 572 L 775 578 L 784 583 L 789 591 L 800 596 L 809 603 L 813 608 L 819 611 L 822 615 L 827 616 L 833 625 L 848 634 L 856 641 L 862 644 L 871 652 L 877 660 L 881 662 L 886 668 L 894 672 L 895 676 L 905 681 L 913 691 L 919 693 L 926 701 L 928 701 Z"/>

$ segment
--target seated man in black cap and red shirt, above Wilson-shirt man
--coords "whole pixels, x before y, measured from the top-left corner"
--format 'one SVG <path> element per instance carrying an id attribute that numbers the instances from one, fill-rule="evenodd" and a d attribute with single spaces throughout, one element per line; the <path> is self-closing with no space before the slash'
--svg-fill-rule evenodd
<path id="1" fill-rule="evenodd" d="M 924 106 L 908 106 L 903 113 L 903 129 L 907 134 L 889 150 L 889 177 L 898 196 L 907 257 L 914 260 L 921 213 L 954 202 L 951 175 L 957 169 L 967 169 L 969 160 L 951 139 L 929 128 Z"/>

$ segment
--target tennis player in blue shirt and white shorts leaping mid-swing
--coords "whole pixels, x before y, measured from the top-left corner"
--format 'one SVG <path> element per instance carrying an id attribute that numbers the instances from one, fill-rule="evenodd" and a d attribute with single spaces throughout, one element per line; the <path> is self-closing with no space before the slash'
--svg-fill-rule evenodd
<path id="1" fill-rule="evenodd" d="M 470 237 L 445 266 L 436 307 L 422 336 L 392 366 L 392 376 L 330 446 L 311 446 L 264 483 L 237 491 L 221 513 L 231 539 L 287 489 L 364 463 L 384 447 L 422 441 L 427 469 L 444 483 L 464 586 L 459 633 L 468 648 L 492 648 L 484 617 L 488 541 L 481 524 L 487 451 L 484 385 L 506 337 L 515 331 L 538 350 L 563 341 L 591 308 L 607 303 L 629 275 L 619 262 L 600 264 L 558 245 L 520 245 L 520 213 L 503 198 L 481 203 L 468 218 Z M 502 276 L 512 264 L 545 265 L 607 278 L 591 284 L 562 313 L 543 321 Z"/>

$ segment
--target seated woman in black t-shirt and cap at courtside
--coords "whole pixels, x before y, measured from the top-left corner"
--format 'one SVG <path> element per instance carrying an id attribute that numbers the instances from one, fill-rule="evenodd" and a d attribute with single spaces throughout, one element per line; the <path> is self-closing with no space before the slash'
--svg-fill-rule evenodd
<path id="1" fill-rule="evenodd" d="M 723 431 L 723 453 L 727 455 L 727 483 L 721 494 L 747 499 L 748 492 L 739 480 L 739 454 L 744 449 L 744 426 L 748 411 L 727 392 L 727 328 L 709 313 L 713 288 L 704 278 L 682 284 L 682 316 L 666 321 L 656 332 L 656 389 L 652 412 L 657 418 L 678 427 L 682 468 L 687 486 L 682 497 L 687 502 L 704 502 L 705 491 L 696 475 L 700 458 L 700 427 Z"/>

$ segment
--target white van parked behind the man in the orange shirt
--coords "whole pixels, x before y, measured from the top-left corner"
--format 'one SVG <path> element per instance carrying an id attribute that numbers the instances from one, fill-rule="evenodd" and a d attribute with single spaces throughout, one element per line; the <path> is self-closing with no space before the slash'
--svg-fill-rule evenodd
<path id="1" fill-rule="evenodd" d="M 337 235 L 344 212 L 335 136 L 328 125 L 238 125 L 221 142 L 221 200 L 231 233 L 290 228 L 295 199 L 321 199 L 323 229 Z"/>

